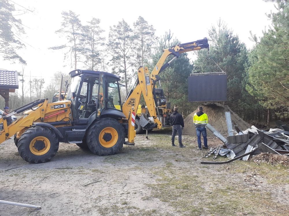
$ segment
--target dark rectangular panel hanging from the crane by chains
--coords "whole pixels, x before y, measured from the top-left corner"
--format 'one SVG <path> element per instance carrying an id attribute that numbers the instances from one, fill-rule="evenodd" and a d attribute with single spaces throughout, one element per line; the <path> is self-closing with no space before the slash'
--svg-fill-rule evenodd
<path id="1" fill-rule="evenodd" d="M 188 101 L 227 101 L 227 74 L 189 76 Z"/>

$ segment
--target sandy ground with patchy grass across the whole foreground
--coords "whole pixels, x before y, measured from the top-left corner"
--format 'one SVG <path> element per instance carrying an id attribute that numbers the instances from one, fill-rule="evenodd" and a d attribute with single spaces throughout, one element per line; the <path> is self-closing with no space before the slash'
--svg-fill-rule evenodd
<path id="1" fill-rule="evenodd" d="M 171 131 L 137 135 L 135 146 L 96 156 L 61 143 L 47 163 L 29 164 L 12 139 L 0 145 L 0 215 L 288 215 L 288 168 L 237 161 L 202 165 L 205 151 Z M 210 146 L 220 145 L 215 138 Z M 219 158 L 217 160 L 226 160 Z"/>

